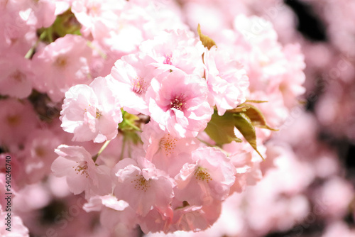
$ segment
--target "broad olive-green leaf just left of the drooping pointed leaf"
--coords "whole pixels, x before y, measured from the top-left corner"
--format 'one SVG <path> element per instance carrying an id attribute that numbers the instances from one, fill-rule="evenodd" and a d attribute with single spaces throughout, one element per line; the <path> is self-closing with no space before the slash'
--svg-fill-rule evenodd
<path id="1" fill-rule="evenodd" d="M 212 140 L 214 140 L 218 145 L 223 145 L 225 143 L 231 143 L 235 140 L 241 143 L 242 140 L 237 138 L 234 134 L 234 117 L 233 114 L 224 114 L 219 116 L 217 111 L 212 114 L 211 121 L 207 124 L 207 128 L 204 131 L 208 134 Z"/>

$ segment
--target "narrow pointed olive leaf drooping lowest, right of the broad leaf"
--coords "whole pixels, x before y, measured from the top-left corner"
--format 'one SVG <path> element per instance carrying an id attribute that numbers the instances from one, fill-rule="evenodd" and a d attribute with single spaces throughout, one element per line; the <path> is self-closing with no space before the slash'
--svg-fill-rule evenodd
<path id="1" fill-rule="evenodd" d="M 250 118 L 244 113 L 233 114 L 234 116 L 234 126 L 238 129 L 241 134 L 244 136 L 246 141 L 251 145 L 254 150 L 263 158 L 261 153 L 259 153 L 258 148 L 256 147 L 256 133 L 253 123 Z M 264 158 L 263 158 L 264 159 Z"/>

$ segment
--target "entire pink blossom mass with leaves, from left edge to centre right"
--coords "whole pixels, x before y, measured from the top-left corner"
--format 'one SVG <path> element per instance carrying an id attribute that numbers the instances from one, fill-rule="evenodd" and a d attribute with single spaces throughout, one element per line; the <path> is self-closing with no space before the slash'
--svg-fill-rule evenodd
<path id="1" fill-rule="evenodd" d="M 300 46 L 257 16 L 207 36 L 175 1 L 0 7 L 0 160 L 19 214 L 64 197 L 23 200 L 64 179 L 108 233 L 203 231 L 272 167 L 265 143 L 305 92 Z"/>

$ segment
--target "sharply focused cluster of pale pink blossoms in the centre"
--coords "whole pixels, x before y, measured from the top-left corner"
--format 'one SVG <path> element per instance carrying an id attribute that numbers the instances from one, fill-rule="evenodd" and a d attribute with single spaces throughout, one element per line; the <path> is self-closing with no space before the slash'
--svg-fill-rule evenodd
<path id="1" fill-rule="evenodd" d="M 74 141 L 103 143 L 118 131 L 129 139 L 125 131 L 142 128 L 143 144 L 129 157 L 117 149 L 119 161 L 112 167 L 99 165 L 99 154 L 93 158 L 82 146 L 60 145 L 54 175 L 67 177 L 74 194 L 85 193 L 88 211 L 97 202 L 109 207 L 104 200 L 110 199 L 121 216 L 117 224 L 129 216 L 129 227 L 139 224 L 144 232 L 203 230 L 233 192 L 236 167 L 197 135 L 213 106 L 224 115 L 246 101 L 248 86 L 246 70 L 226 51 L 204 48 L 188 31 L 163 31 L 117 60 L 107 77 L 71 87 L 60 112 L 61 126 Z M 189 215 L 196 219 L 189 221 Z"/>

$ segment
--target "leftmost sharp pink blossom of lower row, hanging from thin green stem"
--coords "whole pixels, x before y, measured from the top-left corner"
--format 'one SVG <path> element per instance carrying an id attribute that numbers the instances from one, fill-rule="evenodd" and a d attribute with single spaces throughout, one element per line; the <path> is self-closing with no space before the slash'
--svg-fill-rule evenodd
<path id="1" fill-rule="evenodd" d="M 59 157 L 52 164 L 57 177 L 67 177 L 69 189 L 74 194 L 85 192 L 87 197 L 111 192 L 109 168 L 97 166 L 92 155 L 80 146 L 60 145 L 55 149 Z"/>

